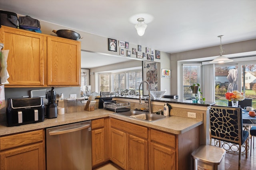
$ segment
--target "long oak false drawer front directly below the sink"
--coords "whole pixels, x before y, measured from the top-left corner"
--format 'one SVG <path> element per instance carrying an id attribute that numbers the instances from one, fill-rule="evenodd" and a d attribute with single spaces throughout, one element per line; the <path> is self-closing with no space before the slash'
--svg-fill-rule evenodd
<path id="1" fill-rule="evenodd" d="M 148 128 L 132 123 L 111 119 L 111 127 L 127 132 L 129 134 L 148 139 Z"/>

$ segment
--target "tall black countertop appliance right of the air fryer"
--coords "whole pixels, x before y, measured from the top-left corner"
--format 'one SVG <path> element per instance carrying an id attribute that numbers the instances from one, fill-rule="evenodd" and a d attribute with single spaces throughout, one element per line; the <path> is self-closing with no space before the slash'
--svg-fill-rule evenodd
<path id="1" fill-rule="evenodd" d="M 46 106 L 46 118 L 56 118 L 57 117 L 57 105 L 56 105 L 56 91 L 54 91 L 54 87 L 52 90 L 46 91 L 45 95 L 46 99 L 48 99 L 48 105 Z"/>

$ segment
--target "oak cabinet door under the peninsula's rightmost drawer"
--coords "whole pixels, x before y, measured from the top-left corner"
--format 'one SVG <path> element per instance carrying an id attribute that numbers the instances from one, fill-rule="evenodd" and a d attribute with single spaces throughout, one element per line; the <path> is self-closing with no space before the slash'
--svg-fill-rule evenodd
<path id="1" fill-rule="evenodd" d="M 150 143 L 150 170 L 175 170 L 175 150 Z"/>

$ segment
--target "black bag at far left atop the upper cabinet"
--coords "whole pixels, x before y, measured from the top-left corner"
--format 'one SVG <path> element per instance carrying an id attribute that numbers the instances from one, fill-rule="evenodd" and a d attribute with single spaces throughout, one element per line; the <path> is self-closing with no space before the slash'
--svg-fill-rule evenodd
<path id="1" fill-rule="evenodd" d="M 17 14 L 0 10 L 0 27 L 1 25 L 18 28 L 19 22 Z"/>

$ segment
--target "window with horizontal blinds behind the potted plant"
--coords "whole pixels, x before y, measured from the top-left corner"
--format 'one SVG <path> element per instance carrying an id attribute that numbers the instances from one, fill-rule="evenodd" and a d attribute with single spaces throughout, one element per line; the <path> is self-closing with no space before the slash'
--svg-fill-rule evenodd
<path id="1" fill-rule="evenodd" d="M 201 64 L 183 64 L 183 99 L 190 98 L 192 84 L 200 84 Z"/>

